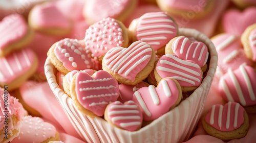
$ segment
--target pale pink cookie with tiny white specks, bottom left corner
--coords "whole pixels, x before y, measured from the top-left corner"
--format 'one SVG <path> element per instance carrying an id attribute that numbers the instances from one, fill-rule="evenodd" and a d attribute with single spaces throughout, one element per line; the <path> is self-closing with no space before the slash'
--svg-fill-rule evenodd
<path id="1" fill-rule="evenodd" d="M 15 142 L 48 142 L 59 140 L 55 127 L 44 122 L 40 117 L 25 116 L 19 135 L 12 140 Z"/>

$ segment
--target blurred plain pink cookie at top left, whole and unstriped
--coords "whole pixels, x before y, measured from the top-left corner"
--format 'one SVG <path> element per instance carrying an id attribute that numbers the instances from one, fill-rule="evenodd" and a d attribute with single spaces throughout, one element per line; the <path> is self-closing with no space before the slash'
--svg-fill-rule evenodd
<path id="1" fill-rule="evenodd" d="M 54 36 L 71 32 L 72 23 L 53 3 L 36 5 L 29 13 L 29 26 L 35 31 Z"/>

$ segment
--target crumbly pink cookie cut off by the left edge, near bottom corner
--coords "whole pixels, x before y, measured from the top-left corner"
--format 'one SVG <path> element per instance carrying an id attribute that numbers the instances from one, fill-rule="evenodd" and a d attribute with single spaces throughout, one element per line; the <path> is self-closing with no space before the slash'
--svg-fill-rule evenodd
<path id="1" fill-rule="evenodd" d="M 0 87 L 0 142 L 9 142 L 20 132 L 24 109 L 18 100 L 8 93 L 8 86 Z"/>

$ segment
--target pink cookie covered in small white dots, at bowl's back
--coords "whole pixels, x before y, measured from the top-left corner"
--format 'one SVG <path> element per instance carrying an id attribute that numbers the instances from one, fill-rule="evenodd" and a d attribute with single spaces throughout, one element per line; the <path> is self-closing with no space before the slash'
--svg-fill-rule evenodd
<path id="1" fill-rule="evenodd" d="M 87 53 L 101 61 L 110 49 L 116 46 L 127 46 L 129 39 L 122 22 L 113 18 L 103 18 L 86 30 L 84 37 Z"/>

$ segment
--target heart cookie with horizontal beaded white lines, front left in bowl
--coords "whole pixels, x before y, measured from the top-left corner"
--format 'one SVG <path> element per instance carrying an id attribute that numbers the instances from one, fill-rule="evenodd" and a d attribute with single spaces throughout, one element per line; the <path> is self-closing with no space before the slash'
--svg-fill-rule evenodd
<path id="1" fill-rule="evenodd" d="M 92 76 L 77 73 L 71 81 L 71 97 L 82 113 L 102 116 L 106 106 L 119 97 L 118 82 L 108 72 L 99 70 Z"/>

